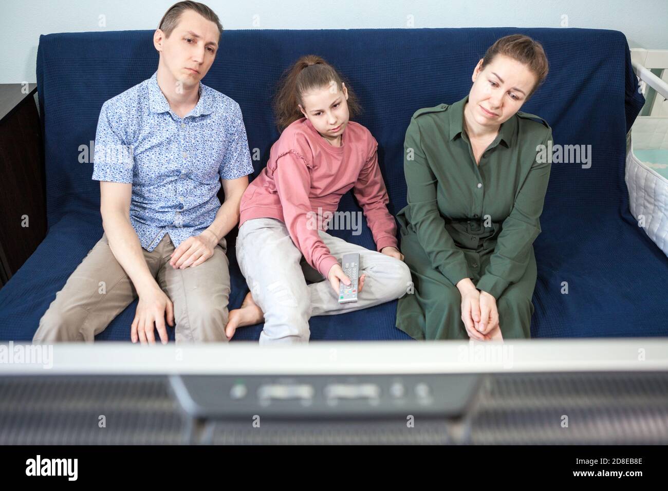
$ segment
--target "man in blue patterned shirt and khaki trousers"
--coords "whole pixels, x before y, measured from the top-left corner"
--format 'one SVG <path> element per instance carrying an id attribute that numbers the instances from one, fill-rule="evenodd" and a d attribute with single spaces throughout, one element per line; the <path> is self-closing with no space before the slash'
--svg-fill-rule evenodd
<path id="1" fill-rule="evenodd" d="M 104 234 L 56 294 L 33 342 L 93 341 L 139 297 L 134 343 L 227 341 L 226 234 L 253 172 L 236 102 L 204 86 L 222 25 L 181 1 L 154 33 L 154 75 L 102 106 L 93 179 Z M 220 182 L 225 194 L 217 198 Z"/>

